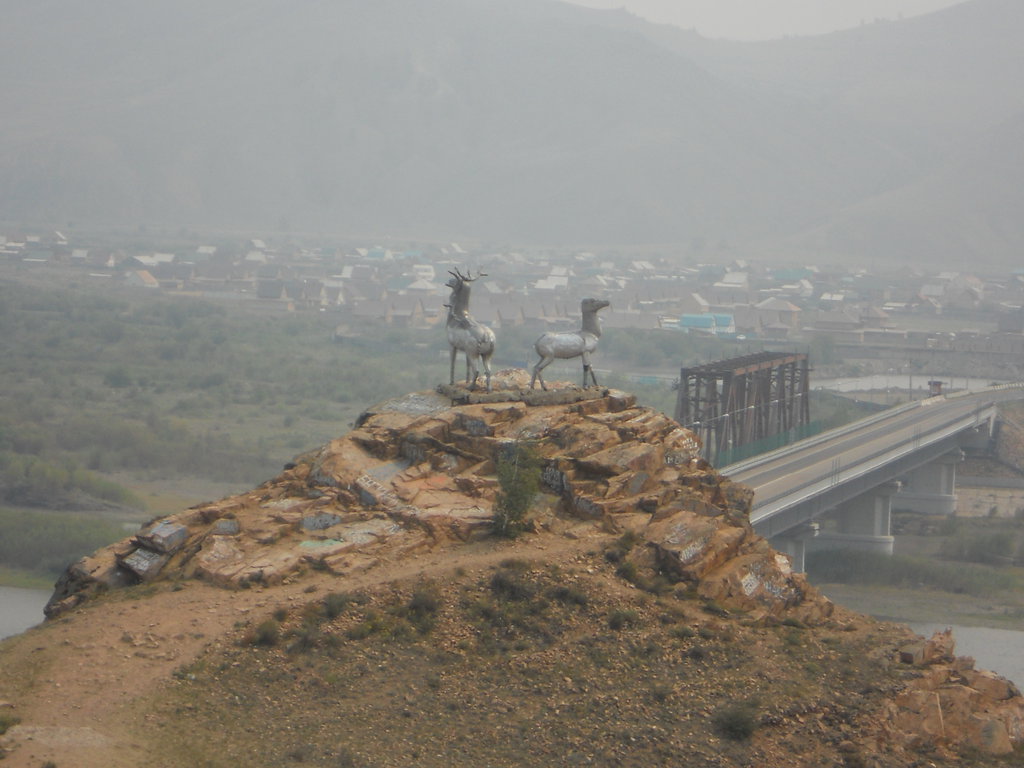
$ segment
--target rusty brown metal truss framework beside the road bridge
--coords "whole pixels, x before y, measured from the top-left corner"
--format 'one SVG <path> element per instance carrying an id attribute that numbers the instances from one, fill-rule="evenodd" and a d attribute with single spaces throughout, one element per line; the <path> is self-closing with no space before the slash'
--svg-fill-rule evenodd
<path id="1" fill-rule="evenodd" d="M 712 464 L 757 440 L 810 423 L 807 355 L 758 352 L 684 368 L 676 421 L 695 432 Z"/>

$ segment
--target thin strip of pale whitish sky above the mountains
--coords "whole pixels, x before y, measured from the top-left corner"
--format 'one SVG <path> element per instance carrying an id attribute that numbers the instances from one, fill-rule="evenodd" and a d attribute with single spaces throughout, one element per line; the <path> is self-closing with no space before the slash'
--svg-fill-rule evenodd
<path id="1" fill-rule="evenodd" d="M 626 8 L 658 24 L 695 29 L 703 37 L 767 40 L 817 35 L 928 13 L 964 0 L 568 0 L 591 8 Z"/>

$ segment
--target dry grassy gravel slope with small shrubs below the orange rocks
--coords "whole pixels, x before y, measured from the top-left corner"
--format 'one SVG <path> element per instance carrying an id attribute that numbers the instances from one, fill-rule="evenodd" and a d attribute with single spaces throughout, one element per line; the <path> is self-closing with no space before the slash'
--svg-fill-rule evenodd
<path id="1" fill-rule="evenodd" d="M 595 553 L 322 597 L 254 617 L 240 638 L 270 621 L 275 643 L 215 645 L 153 714 L 168 764 L 826 765 L 898 684 L 873 623 L 723 618 L 678 594 Z"/>

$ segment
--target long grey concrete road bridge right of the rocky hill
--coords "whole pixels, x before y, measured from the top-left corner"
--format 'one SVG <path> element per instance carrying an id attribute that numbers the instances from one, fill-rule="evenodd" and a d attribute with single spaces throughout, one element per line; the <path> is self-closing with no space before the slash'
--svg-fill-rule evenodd
<path id="1" fill-rule="evenodd" d="M 719 471 L 754 488 L 755 530 L 798 569 L 814 549 L 891 554 L 892 510 L 952 514 L 964 449 L 990 445 L 1011 399 L 1024 382 L 909 402 Z"/>

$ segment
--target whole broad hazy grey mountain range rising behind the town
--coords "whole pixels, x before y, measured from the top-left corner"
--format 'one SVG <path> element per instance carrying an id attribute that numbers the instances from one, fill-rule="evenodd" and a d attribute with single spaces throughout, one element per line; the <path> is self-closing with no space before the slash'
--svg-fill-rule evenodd
<path id="1" fill-rule="evenodd" d="M 774 249 L 878 231 L 979 152 L 1020 178 L 988 143 L 1024 111 L 1010 0 L 772 43 L 554 0 L 5 6 L 0 219 Z"/>

